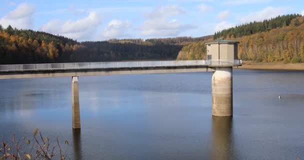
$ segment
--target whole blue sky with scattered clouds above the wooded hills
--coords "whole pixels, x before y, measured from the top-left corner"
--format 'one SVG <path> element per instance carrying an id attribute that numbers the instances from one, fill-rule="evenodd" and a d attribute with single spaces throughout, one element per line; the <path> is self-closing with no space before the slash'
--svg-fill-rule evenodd
<path id="1" fill-rule="evenodd" d="M 0 0 L 0 24 L 78 41 L 203 36 L 251 20 L 304 14 L 303 0 Z"/>

